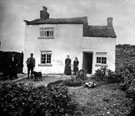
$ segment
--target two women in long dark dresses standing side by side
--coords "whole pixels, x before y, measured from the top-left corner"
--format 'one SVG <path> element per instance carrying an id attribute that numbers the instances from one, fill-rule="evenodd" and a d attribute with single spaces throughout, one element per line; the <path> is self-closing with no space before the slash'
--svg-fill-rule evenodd
<path id="1" fill-rule="evenodd" d="M 78 58 L 75 57 L 75 60 L 73 61 L 73 75 L 76 75 L 76 72 L 78 69 L 79 61 Z M 71 75 L 71 59 L 69 58 L 69 55 L 67 55 L 67 58 L 65 59 L 65 75 Z"/>

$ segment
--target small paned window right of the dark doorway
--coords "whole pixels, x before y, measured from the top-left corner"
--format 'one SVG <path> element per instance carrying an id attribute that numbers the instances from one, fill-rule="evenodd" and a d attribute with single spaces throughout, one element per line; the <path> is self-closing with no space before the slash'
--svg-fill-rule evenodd
<path id="1" fill-rule="evenodd" d="M 107 53 L 106 52 L 97 52 L 96 53 L 96 63 L 99 65 L 106 65 L 107 64 Z"/>

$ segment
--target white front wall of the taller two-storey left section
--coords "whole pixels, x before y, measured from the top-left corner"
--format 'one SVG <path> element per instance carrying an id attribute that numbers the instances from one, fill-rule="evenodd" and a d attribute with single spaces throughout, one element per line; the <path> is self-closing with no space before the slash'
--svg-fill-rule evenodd
<path id="1" fill-rule="evenodd" d="M 39 39 L 40 27 L 54 27 L 54 39 Z M 25 30 L 24 72 L 27 72 L 26 60 L 30 53 L 36 59 L 35 70 L 42 73 L 63 73 L 67 55 L 70 55 L 72 64 L 74 57 L 78 57 L 79 68 L 82 68 L 82 24 L 26 25 Z M 52 51 L 52 66 L 40 65 L 41 50 Z"/>

